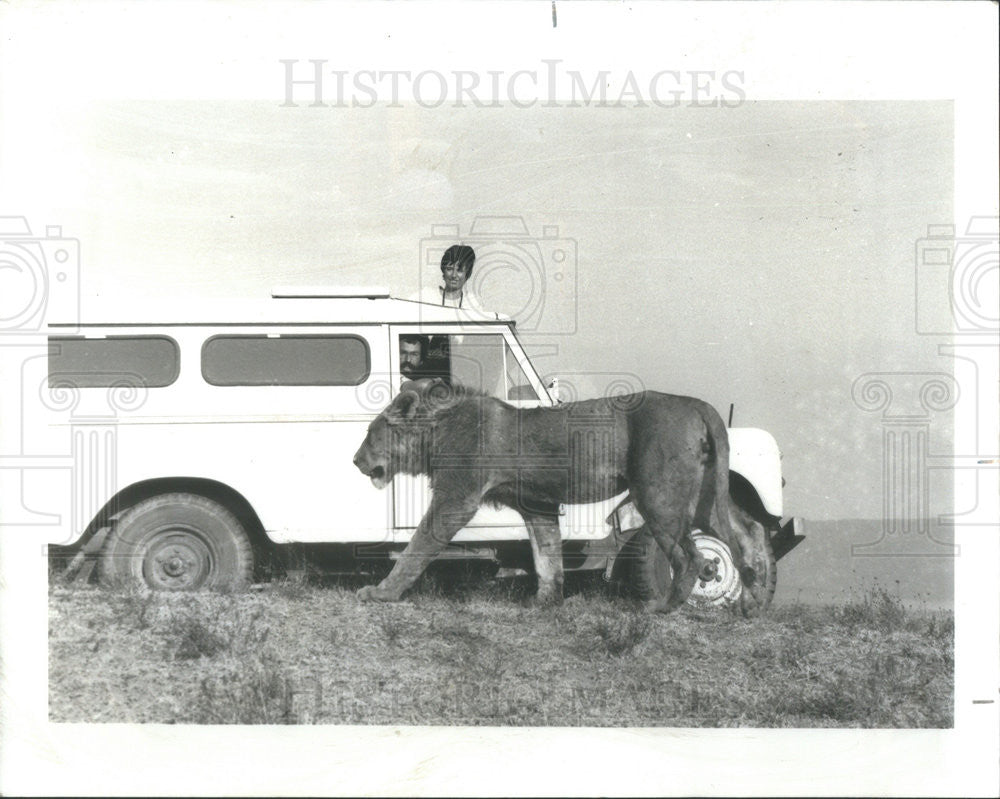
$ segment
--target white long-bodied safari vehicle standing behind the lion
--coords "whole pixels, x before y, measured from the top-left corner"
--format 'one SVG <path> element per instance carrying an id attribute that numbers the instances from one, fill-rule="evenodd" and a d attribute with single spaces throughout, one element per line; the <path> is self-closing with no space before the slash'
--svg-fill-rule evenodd
<path id="1" fill-rule="evenodd" d="M 50 541 L 63 547 L 64 579 L 239 585 L 266 577 L 276 554 L 295 549 L 286 545 L 324 551 L 337 570 L 391 566 L 429 486 L 397 475 L 379 491 L 352 454 L 398 393 L 400 339 L 413 336 L 423 365 L 433 361 L 453 384 L 514 406 L 558 402 L 513 320 L 382 290 L 278 289 L 261 302 L 164 309 L 143 321 L 50 324 L 48 357 L 26 364 L 37 374 L 23 383 L 41 387 L 49 451 L 70 454 L 65 469 L 25 474 L 22 493 L 58 518 Z M 781 521 L 781 456 L 763 430 L 729 435 L 733 515 L 762 539 L 773 594 L 777 559 L 801 540 L 794 520 Z M 560 508 L 564 567 L 655 594 L 669 566 L 637 534 L 642 519 L 625 499 Z M 691 601 L 738 601 L 725 544 L 701 533 L 697 542 L 716 569 Z M 527 531 L 510 509 L 480 508 L 445 557 L 531 569 Z"/>

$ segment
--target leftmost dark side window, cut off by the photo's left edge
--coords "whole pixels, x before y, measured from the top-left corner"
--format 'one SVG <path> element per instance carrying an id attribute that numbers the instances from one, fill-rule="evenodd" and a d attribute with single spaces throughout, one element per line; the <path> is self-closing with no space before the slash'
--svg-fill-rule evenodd
<path id="1" fill-rule="evenodd" d="M 167 336 L 49 338 L 49 388 L 160 388 L 179 373 L 180 350 Z"/>

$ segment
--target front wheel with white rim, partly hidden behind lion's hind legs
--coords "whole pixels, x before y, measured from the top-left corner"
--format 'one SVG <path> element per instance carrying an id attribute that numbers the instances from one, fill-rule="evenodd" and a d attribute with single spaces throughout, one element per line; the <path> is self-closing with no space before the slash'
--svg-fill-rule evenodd
<path id="1" fill-rule="evenodd" d="M 715 536 L 695 530 L 692 533 L 695 546 L 701 554 L 715 564 L 716 575 L 711 580 L 698 580 L 688 604 L 697 608 L 728 608 L 739 606 L 744 615 L 756 615 L 766 610 L 774 597 L 777 585 L 777 565 L 771 549 L 770 534 L 761 527 L 763 535 L 755 536 L 762 554 L 752 564 L 758 578 L 763 576 L 766 591 L 763 608 L 740 581 L 733 563 L 729 547 Z M 619 557 L 626 556 L 626 574 L 631 584 L 631 592 L 641 600 L 660 599 L 669 589 L 672 581 L 670 562 L 657 546 L 656 540 L 645 527 L 636 531 Z"/>

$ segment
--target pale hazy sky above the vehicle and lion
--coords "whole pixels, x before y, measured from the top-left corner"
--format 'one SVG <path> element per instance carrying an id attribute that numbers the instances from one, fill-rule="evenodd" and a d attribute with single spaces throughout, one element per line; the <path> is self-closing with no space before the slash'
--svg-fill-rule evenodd
<path id="1" fill-rule="evenodd" d="M 882 513 L 883 419 L 855 381 L 952 371 L 914 318 L 917 242 L 953 217 L 952 119 L 944 101 L 119 101 L 48 135 L 73 178 L 58 215 L 85 317 L 279 284 L 405 297 L 433 285 L 427 253 L 457 226 L 484 300 L 522 317 L 567 395 L 732 403 L 734 426 L 778 441 L 786 515 L 835 519 Z M 949 452 L 949 413 L 929 421 Z M 935 482 L 931 512 L 950 491 Z"/>

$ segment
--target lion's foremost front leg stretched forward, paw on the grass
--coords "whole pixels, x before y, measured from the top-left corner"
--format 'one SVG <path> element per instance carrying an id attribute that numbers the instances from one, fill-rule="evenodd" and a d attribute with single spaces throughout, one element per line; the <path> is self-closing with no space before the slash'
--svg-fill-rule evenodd
<path id="1" fill-rule="evenodd" d="M 362 601 L 398 602 L 455 534 L 471 521 L 478 507 L 478 502 L 439 501 L 435 495 L 389 576 L 377 586 L 361 588 L 358 598 Z"/>

